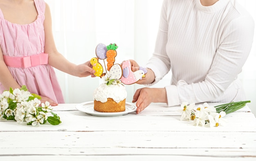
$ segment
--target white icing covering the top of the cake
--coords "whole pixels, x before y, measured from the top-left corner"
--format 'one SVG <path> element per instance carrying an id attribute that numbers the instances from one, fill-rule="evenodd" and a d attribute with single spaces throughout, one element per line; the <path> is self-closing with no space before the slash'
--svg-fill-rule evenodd
<path id="1" fill-rule="evenodd" d="M 97 89 L 94 90 L 93 99 L 107 102 L 108 98 L 112 98 L 115 102 L 119 103 L 127 97 L 127 91 L 124 85 L 106 85 L 102 83 Z"/>

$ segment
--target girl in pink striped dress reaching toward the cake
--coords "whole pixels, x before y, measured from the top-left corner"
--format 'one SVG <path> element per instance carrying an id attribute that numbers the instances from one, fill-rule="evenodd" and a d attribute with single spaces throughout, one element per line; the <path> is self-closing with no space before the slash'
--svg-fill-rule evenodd
<path id="1" fill-rule="evenodd" d="M 26 85 L 41 102 L 64 103 L 53 67 L 73 76 L 94 76 L 87 61 L 75 65 L 56 50 L 44 0 L 0 0 L 0 93 Z"/>

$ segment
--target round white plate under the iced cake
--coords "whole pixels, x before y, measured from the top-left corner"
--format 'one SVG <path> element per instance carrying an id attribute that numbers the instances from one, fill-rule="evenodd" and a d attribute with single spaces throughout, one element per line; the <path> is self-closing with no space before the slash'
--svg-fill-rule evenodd
<path id="1" fill-rule="evenodd" d="M 121 116 L 136 111 L 137 109 L 135 104 L 129 102 L 126 102 L 125 106 L 125 111 L 123 112 L 98 112 L 94 110 L 94 101 L 90 101 L 76 105 L 76 109 L 94 116 Z"/>

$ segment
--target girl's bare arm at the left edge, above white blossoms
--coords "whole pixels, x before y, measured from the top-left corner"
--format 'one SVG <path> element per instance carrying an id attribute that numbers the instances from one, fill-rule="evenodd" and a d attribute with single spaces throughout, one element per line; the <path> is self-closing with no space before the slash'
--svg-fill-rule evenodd
<path id="1" fill-rule="evenodd" d="M 4 89 L 9 90 L 10 87 L 13 89 L 20 88 L 20 85 L 16 82 L 16 80 L 11 75 L 8 67 L 4 63 L 4 58 L 2 54 L 2 49 L 0 47 L 0 82 L 4 86 Z"/>

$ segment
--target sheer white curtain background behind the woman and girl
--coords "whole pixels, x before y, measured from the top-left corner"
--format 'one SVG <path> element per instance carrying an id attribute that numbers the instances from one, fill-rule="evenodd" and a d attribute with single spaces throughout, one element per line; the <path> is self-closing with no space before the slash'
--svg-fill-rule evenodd
<path id="1" fill-rule="evenodd" d="M 115 63 L 135 59 L 141 66 L 153 53 L 159 25 L 162 0 L 45 0 L 52 13 L 52 28 L 56 47 L 69 61 L 80 64 L 96 57 L 97 44 L 116 43 Z M 255 0 L 238 0 L 256 20 Z M 249 107 L 256 115 L 256 31 L 254 44 L 243 72 L 242 80 Z M 101 62 L 103 63 L 103 62 Z M 55 70 L 66 103 L 92 101 L 92 93 L 100 78 L 78 78 Z M 168 73 L 157 85 L 170 84 Z M 143 85 L 126 85 L 127 101 Z"/>

